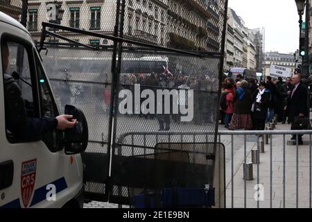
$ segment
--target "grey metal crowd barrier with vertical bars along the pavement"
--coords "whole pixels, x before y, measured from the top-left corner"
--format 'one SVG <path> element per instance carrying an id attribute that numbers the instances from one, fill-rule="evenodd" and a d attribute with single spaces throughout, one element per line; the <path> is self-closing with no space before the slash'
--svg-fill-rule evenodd
<path id="1" fill-rule="evenodd" d="M 142 144 L 141 148 L 143 148 L 144 146 L 146 146 L 146 148 L 144 149 L 144 153 L 146 153 L 148 151 L 148 144 L 150 143 L 150 137 L 155 137 L 155 142 L 156 144 L 159 142 L 177 142 L 177 137 L 179 137 L 180 139 L 178 139 L 178 142 L 211 142 L 209 141 L 208 137 L 209 135 L 214 135 L 214 133 L 207 133 L 207 132 L 195 132 L 195 133 L 188 133 L 188 132 L 172 132 L 172 133 L 162 133 L 162 132 L 157 132 L 157 133 L 126 133 L 124 135 L 121 135 L 118 139 L 118 147 L 122 149 L 123 145 L 135 145 L 136 144 L 136 137 L 139 138 L 140 143 Z M 287 161 L 286 161 L 286 136 L 287 135 L 295 135 L 295 137 L 297 138 L 295 140 L 295 145 L 292 146 L 292 148 L 295 146 L 295 194 L 290 194 L 289 189 L 286 189 L 286 185 L 288 186 L 294 186 L 293 182 L 289 182 L 286 183 L 286 166 L 287 166 Z M 302 146 L 298 145 L 298 135 L 305 135 L 304 139 L 306 140 L 306 137 L 309 137 L 309 144 L 306 143 L 306 146 L 309 146 L 308 149 L 308 153 L 307 155 L 309 157 L 306 157 L 307 155 L 302 155 L 302 151 L 300 151 L 302 149 Z M 225 172 L 226 176 L 229 176 L 227 173 L 231 173 L 230 176 L 230 181 L 227 181 L 227 185 L 226 185 L 226 189 L 230 189 L 230 192 L 227 192 L 227 195 L 230 194 L 230 198 L 231 200 L 227 201 L 227 205 L 230 205 L 230 207 L 249 207 L 247 205 L 247 193 L 250 192 L 250 190 L 247 188 L 248 187 L 248 180 L 245 180 L 246 178 L 246 174 L 247 170 L 244 171 L 244 175 L 241 176 L 241 180 L 243 180 L 243 197 L 235 197 L 234 196 L 234 176 L 236 176 L 236 173 L 234 171 L 234 144 L 235 143 L 239 143 L 241 142 L 241 139 L 243 139 L 243 144 L 241 144 L 241 146 L 243 146 L 243 162 L 239 162 L 239 164 L 243 165 L 244 163 L 247 164 L 247 157 L 248 157 L 248 143 L 250 143 L 250 141 L 248 141 L 248 139 L 250 140 L 250 136 L 253 136 L 253 145 L 252 146 L 257 146 L 257 153 L 259 155 L 259 157 L 261 157 L 261 150 L 263 151 L 263 148 L 261 148 L 261 144 L 263 141 L 263 144 L 265 144 L 264 139 L 266 139 L 266 137 L 268 137 L 269 140 L 269 144 L 267 145 L 268 148 L 268 152 L 269 152 L 269 162 L 267 163 L 269 165 L 269 178 L 270 178 L 270 190 L 269 190 L 269 194 L 270 194 L 270 198 L 266 199 L 268 204 L 265 207 L 273 207 L 273 197 L 276 193 L 276 191 L 273 193 L 273 181 L 277 180 L 279 178 L 275 178 L 276 175 L 274 175 L 273 171 L 273 164 L 276 163 L 276 158 L 275 160 L 273 160 L 273 148 L 277 148 L 277 146 L 282 146 L 281 147 L 281 152 L 282 152 L 282 200 L 281 200 L 281 205 L 279 207 L 283 207 L 286 208 L 286 196 L 291 198 L 291 202 L 293 203 L 293 207 L 309 207 L 311 208 L 311 203 L 312 203 L 312 181 L 311 181 L 311 175 L 312 175 L 312 153 L 311 153 L 311 146 L 312 146 L 312 130 L 264 130 L 264 131 L 257 131 L 257 130 L 253 130 L 253 131 L 248 131 L 248 130 L 244 130 L 244 131 L 239 131 L 239 130 L 234 130 L 234 131 L 219 131 L 218 132 L 218 142 L 226 142 L 225 144 L 225 155 L 226 157 L 228 155 L 230 155 L 229 157 L 229 161 L 231 162 L 230 165 L 230 172 Z M 225 138 L 226 136 L 229 136 L 229 138 Z M 143 137 L 143 140 L 142 140 Z M 162 137 L 162 140 L 159 140 L 159 137 Z M 186 138 L 187 139 L 184 139 Z M 196 137 L 200 137 L 200 139 L 196 139 Z M 243 138 L 242 138 L 243 137 Z M 263 137 L 263 139 L 260 139 L 261 137 Z M 274 140 L 275 137 L 277 137 L 277 139 L 279 139 L 279 141 Z M 130 143 L 125 142 L 128 138 Z M 165 138 L 165 139 L 164 139 Z M 175 139 L 173 139 L 175 138 Z M 190 138 L 192 141 L 190 141 Z M 280 140 L 281 139 L 281 140 Z M 173 141 L 174 140 L 174 141 Z M 186 141 L 187 140 L 187 141 Z M 277 142 L 277 144 L 273 144 L 273 141 Z M 280 144 L 281 142 L 281 144 Z M 153 144 L 153 143 L 152 143 Z M 304 146 L 306 148 L 306 146 Z M 150 148 L 153 147 L 150 146 Z M 280 147 L 279 147 L 280 148 Z M 291 151 L 291 148 L 288 149 Z M 288 151 L 287 150 L 287 151 Z M 300 153 L 301 152 L 301 153 Z M 120 152 L 119 152 L 120 153 Z M 122 153 L 122 152 L 121 152 Z M 132 149 L 132 155 L 133 153 L 135 153 L 135 151 L 133 151 Z M 250 152 L 251 154 L 251 152 Z M 300 162 L 300 157 L 306 157 L 307 161 L 304 162 Z M 309 169 L 309 194 L 308 194 L 308 189 L 306 187 L 306 189 L 302 188 L 301 185 L 302 183 L 300 181 L 302 181 L 301 179 L 299 180 L 299 178 L 302 178 L 302 172 L 299 171 L 300 168 L 300 164 L 306 164 L 306 167 L 304 169 Z M 261 182 L 261 178 L 260 178 L 260 173 L 261 173 L 261 167 L 268 167 L 268 165 L 263 165 L 261 164 L 261 161 L 257 161 L 257 164 L 255 164 L 257 166 L 257 170 L 256 170 L 256 175 L 257 175 L 257 185 L 260 185 Z M 291 166 L 292 167 L 292 166 Z M 291 172 L 292 173 L 292 172 Z M 301 173 L 301 174 L 300 174 Z M 289 175 L 288 175 L 289 176 Z M 288 182 L 288 181 L 287 181 Z M 299 184 L 300 182 L 300 184 Z M 306 181 L 307 182 L 307 181 Z M 250 186 L 249 186 L 250 187 Z M 240 187 L 238 187 L 240 188 Z M 309 204 L 306 205 L 302 205 L 300 202 L 300 196 L 299 196 L 299 190 L 300 191 L 305 191 L 304 194 L 304 198 L 306 198 L 306 202 L 308 201 L 307 198 L 309 198 Z M 258 190 L 259 191 L 259 190 Z M 259 196 L 258 191 L 255 193 L 255 196 Z M 287 192 L 287 195 L 286 195 Z M 308 197 L 309 195 L 309 197 Z M 301 196 L 302 197 L 302 196 Z M 237 199 L 241 199 L 243 198 L 243 205 L 241 206 L 236 206 L 235 202 Z M 261 203 L 261 198 L 257 198 L 257 208 L 260 207 L 260 203 Z M 263 200 L 264 201 L 264 200 Z M 288 202 L 289 203 L 289 202 Z M 262 205 L 262 204 L 261 204 Z M 228 207 L 228 206 L 227 206 Z M 277 206 L 278 207 L 278 206 Z M 288 207 L 288 206 L 287 206 Z"/>

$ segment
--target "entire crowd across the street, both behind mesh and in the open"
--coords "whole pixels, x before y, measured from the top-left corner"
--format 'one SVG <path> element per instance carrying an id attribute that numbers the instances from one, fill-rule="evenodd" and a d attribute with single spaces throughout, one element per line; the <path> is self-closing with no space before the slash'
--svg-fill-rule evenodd
<path id="1" fill-rule="evenodd" d="M 223 108 L 220 105 L 221 124 L 229 130 L 265 130 L 266 123 L 271 122 L 275 116 L 277 121 L 283 124 L 291 123 L 293 117 L 300 116 L 302 113 L 307 116 L 309 111 L 301 111 L 297 108 L 293 110 L 295 106 L 307 108 L 307 97 L 305 101 L 300 99 L 299 105 L 292 103 L 300 78 L 300 75 L 294 74 L 293 78 L 286 78 L 283 81 L 282 78 L 273 79 L 267 76 L 266 80 L 260 83 L 257 79 L 243 79 L 241 75 L 235 80 L 225 78 L 222 83 L 221 100 L 224 98 L 226 105 Z M 121 83 L 120 89 L 130 89 L 132 92 L 135 92 L 135 84 L 140 84 L 141 92 L 144 89 L 151 89 L 154 92 L 157 89 L 193 89 L 194 115 L 191 123 L 203 125 L 215 122 L 216 106 L 213 104 L 218 99 L 218 78 L 210 78 L 208 75 L 127 74 L 121 76 L 119 83 Z M 302 90 L 297 91 L 295 97 Z M 105 97 L 110 97 L 110 94 Z M 304 96 L 300 95 L 301 97 Z M 141 98 L 141 103 L 144 100 Z M 136 107 L 134 101 L 132 102 L 132 114 L 135 115 L 138 113 L 136 110 L 141 107 Z M 105 100 L 105 103 L 108 105 L 110 100 Z M 187 105 L 187 98 L 183 100 L 179 98 L 177 103 Z M 137 115 L 141 118 L 157 119 L 159 130 L 170 130 L 173 121 L 180 123 L 181 114 L 173 114 L 172 110 L 171 114 L 142 114 L 141 110 L 139 113 Z"/>

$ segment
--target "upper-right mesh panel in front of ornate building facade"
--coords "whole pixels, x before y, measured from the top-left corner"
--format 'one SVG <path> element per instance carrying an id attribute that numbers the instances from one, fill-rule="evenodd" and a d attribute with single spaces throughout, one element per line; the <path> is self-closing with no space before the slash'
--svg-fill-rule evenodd
<path id="1" fill-rule="evenodd" d="M 173 49 L 220 52 L 225 0 L 124 3 L 124 37 Z"/>

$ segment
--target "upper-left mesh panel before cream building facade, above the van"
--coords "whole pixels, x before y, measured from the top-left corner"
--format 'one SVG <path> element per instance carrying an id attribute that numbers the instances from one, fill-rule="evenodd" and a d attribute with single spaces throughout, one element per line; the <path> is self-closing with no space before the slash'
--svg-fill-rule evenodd
<path id="1" fill-rule="evenodd" d="M 80 0 L 80 1 L 31 1 L 28 0 L 28 31 L 35 41 L 39 42 L 42 22 L 50 22 L 94 31 L 108 35 L 114 34 L 116 25 L 116 0 Z M 68 37 L 83 44 L 107 46 L 111 41 L 90 37 L 82 34 L 73 34 L 51 28 L 50 31 Z M 49 37 L 50 42 L 66 43 L 55 37 Z"/>

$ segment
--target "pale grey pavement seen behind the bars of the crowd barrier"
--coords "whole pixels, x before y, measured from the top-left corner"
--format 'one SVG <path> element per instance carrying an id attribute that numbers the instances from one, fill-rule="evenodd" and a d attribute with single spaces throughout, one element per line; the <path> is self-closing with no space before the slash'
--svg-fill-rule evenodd
<path id="1" fill-rule="evenodd" d="M 278 123 L 275 130 L 290 130 L 290 124 Z M 220 128 L 223 130 L 223 128 Z M 270 207 L 270 196 L 272 195 L 272 207 L 284 207 L 283 202 L 283 180 L 285 173 L 285 207 L 296 207 L 296 178 L 298 177 L 298 206 L 309 207 L 309 145 L 299 146 L 298 148 L 298 175 L 297 166 L 297 148 L 293 145 L 287 145 L 291 135 L 286 135 L 285 147 L 285 166 L 283 162 L 283 136 L 275 135 L 272 137 L 272 187 L 270 186 L 270 144 L 265 145 L 265 153 L 260 153 L 259 164 L 259 184 L 263 185 L 263 201 L 259 202 L 259 207 Z M 260 141 L 261 141 L 260 137 Z M 309 135 L 304 135 L 304 144 L 309 144 Z M 225 144 L 225 175 L 226 175 L 226 199 L 227 208 L 232 207 L 232 157 L 231 140 L 229 136 L 221 138 Z M 270 140 L 269 140 L 270 141 Z M 251 162 L 251 150 L 257 149 L 257 142 L 247 142 L 247 158 L 246 162 Z M 244 162 L 244 146 L 243 136 L 234 138 L 234 207 L 244 207 L 244 185 L 243 180 L 243 162 Z M 253 164 L 254 180 L 246 181 L 246 207 L 257 207 L 257 201 L 254 195 L 257 190 L 254 189 L 258 184 L 257 180 L 257 164 Z"/>

